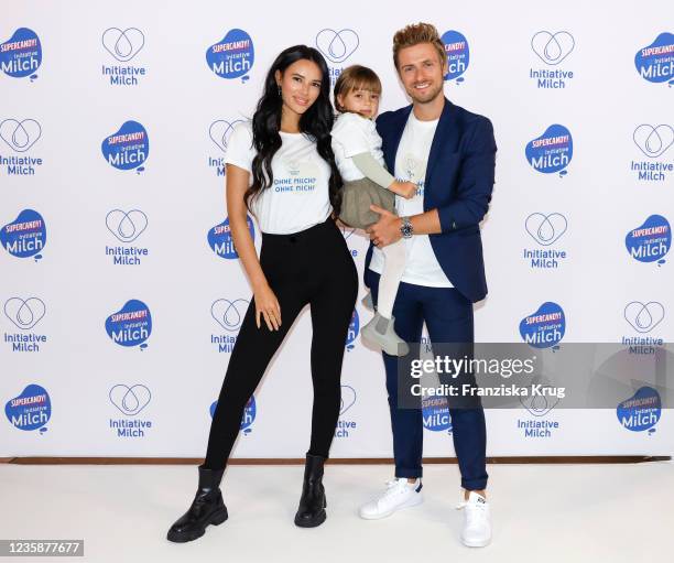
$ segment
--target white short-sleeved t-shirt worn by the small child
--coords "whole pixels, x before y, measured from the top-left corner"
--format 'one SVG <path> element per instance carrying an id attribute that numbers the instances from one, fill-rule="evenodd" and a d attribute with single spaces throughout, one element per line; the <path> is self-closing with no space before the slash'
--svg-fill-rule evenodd
<path id="1" fill-rule="evenodd" d="M 333 126 L 333 152 L 335 162 L 345 182 L 360 180 L 362 172 L 354 164 L 352 156 L 369 152 L 372 158 L 384 166 L 381 152 L 381 137 L 371 119 L 358 113 L 340 113 Z"/>

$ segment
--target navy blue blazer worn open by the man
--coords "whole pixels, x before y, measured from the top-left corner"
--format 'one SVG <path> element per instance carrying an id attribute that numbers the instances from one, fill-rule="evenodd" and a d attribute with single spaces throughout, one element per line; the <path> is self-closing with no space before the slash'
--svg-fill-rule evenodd
<path id="1" fill-rule="evenodd" d="M 377 119 L 389 171 L 395 170 L 395 153 L 412 106 L 387 111 Z M 489 208 L 494 182 L 496 140 L 491 121 L 445 98 L 424 183 L 424 212 L 437 208 L 442 232 L 428 235 L 437 261 L 453 285 L 471 302 L 487 295 L 479 223 Z M 373 245 L 365 263 L 365 284 L 371 285 L 369 269 Z"/>

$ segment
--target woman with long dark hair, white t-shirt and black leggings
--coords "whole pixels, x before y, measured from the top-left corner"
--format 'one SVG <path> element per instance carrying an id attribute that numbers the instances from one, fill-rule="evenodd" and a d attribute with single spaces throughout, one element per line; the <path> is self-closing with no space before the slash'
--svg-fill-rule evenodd
<path id="1" fill-rule="evenodd" d="M 237 126 L 227 148 L 227 209 L 231 236 L 253 290 L 231 353 L 210 425 L 198 490 L 168 530 L 175 542 L 227 520 L 219 484 L 243 408 L 300 311 L 311 306 L 314 407 L 311 446 L 295 523 L 325 521 L 323 465 L 339 416 L 341 360 L 358 278 L 335 224 L 341 178 L 330 148 L 333 107 L 325 59 L 296 45 L 272 64 L 252 122 Z M 260 259 L 247 226 L 262 231 Z"/>

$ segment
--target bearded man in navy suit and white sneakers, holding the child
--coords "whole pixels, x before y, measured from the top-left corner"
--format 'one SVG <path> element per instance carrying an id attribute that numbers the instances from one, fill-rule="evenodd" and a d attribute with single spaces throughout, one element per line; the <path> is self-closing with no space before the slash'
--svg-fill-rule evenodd
<path id="1" fill-rule="evenodd" d="M 489 119 L 445 98 L 447 57 L 435 26 L 420 23 L 396 32 L 393 62 L 412 105 L 382 113 L 377 130 L 389 170 L 396 178 L 416 182 L 418 190 L 410 201 L 396 198 L 398 216 L 372 206 L 380 220 L 368 229 L 365 283 L 377 302 L 380 249 L 405 238 L 407 263 L 393 307 L 395 332 L 407 343 L 418 343 L 425 322 L 432 343 L 472 343 L 472 303 L 487 294 L 479 223 L 493 187 L 493 129 Z M 411 356 L 400 361 L 409 366 Z M 422 502 L 422 410 L 399 404 L 399 358 L 384 353 L 383 359 L 395 479 L 361 507 L 366 519 Z M 483 546 L 491 539 L 485 413 L 481 405 L 449 411 L 465 489 L 461 541 Z"/>

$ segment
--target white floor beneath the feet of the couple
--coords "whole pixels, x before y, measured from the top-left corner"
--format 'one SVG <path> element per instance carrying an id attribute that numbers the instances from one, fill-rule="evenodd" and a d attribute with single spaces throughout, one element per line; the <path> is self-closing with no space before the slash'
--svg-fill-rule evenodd
<path id="1" fill-rule="evenodd" d="M 196 466 L 0 464 L 0 539 L 84 539 L 74 561 L 96 563 L 674 560 L 674 463 L 490 465 L 494 533 L 481 550 L 458 541 L 456 465 L 426 466 L 424 504 L 379 521 L 360 520 L 357 507 L 391 468 L 328 466 L 328 519 L 308 530 L 293 524 L 302 470 L 232 466 L 229 520 L 174 544 L 166 529 L 192 501 Z"/>

